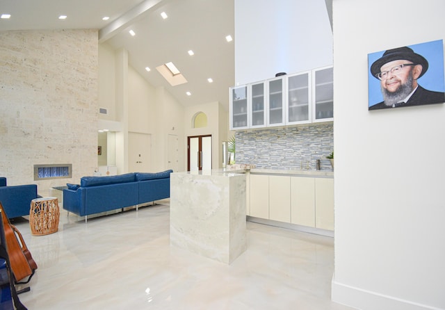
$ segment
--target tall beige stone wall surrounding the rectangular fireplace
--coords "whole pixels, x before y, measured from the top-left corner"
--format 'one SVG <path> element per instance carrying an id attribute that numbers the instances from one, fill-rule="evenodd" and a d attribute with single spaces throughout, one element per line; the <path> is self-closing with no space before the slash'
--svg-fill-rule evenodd
<path id="1" fill-rule="evenodd" d="M 77 183 L 97 167 L 97 30 L 0 32 L 0 176 L 8 185 Z M 72 163 L 72 179 L 33 180 Z"/>

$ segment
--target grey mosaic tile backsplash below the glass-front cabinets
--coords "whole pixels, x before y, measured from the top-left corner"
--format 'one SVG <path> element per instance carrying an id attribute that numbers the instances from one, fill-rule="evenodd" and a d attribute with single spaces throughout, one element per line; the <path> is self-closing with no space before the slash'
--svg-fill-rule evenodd
<path id="1" fill-rule="evenodd" d="M 321 159 L 321 170 L 332 170 L 326 156 L 334 149 L 333 124 L 236 131 L 235 145 L 236 163 L 316 170 L 316 160 Z"/>

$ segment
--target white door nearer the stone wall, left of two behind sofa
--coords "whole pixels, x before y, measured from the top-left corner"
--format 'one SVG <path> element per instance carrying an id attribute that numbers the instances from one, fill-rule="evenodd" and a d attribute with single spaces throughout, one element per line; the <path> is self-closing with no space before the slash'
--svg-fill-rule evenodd
<path id="1" fill-rule="evenodd" d="M 128 133 L 129 172 L 150 172 L 152 162 L 152 135 Z"/>

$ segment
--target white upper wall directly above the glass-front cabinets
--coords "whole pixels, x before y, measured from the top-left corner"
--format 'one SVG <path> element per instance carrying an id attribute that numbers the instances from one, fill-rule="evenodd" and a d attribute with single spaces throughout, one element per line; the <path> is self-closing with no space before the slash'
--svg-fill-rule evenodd
<path id="1" fill-rule="evenodd" d="M 234 0 L 235 83 L 332 65 L 325 0 Z"/>

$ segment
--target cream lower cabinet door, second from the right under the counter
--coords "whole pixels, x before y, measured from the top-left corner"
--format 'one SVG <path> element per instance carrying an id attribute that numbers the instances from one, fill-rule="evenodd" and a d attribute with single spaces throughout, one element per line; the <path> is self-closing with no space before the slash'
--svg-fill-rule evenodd
<path id="1" fill-rule="evenodd" d="M 315 178 L 291 177 L 291 223 L 315 227 Z"/>

